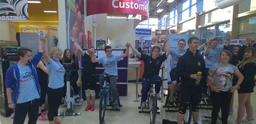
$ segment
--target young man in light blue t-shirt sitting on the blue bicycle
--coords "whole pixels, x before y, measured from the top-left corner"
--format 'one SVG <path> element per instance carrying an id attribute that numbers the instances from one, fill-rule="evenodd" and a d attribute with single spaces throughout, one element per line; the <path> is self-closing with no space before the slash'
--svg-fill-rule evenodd
<path id="1" fill-rule="evenodd" d="M 127 44 L 127 43 L 126 43 Z M 91 49 L 88 49 L 89 52 L 92 52 L 94 55 L 95 51 L 92 51 Z M 121 55 L 113 55 L 112 54 L 112 48 L 111 46 L 107 45 L 104 48 L 105 54 L 104 56 L 101 56 L 99 58 L 92 57 L 92 62 L 93 63 L 99 63 L 103 65 L 104 72 L 102 75 L 118 75 L 117 74 L 117 61 L 119 61 L 121 58 L 127 57 L 129 53 L 129 47 L 127 47 L 126 51 L 124 54 Z M 110 87 L 112 90 L 112 95 L 113 95 L 113 100 L 114 100 L 114 107 L 118 107 L 118 92 L 116 90 L 116 81 L 117 77 L 115 76 L 110 76 Z M 100 76 L 99 77 L 99 83 L 100 83 L 100 88 L 102 88 L 104 82 L 104 77 Z"/>

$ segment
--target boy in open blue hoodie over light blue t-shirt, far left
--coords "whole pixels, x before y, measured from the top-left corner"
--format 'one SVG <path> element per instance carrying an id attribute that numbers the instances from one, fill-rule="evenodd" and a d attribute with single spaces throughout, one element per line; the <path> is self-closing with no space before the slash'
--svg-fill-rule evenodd
<path id="1" fill-rule="evenodd" d="M 28 124 L 36 123 L 41 92 L 36 65 L 42 57 L 41 40 L 38 43 L 38 53 L 33 58 L 32 50 L 23 47 L 17 50 L 17 55 L 19 62 L 6 72 L 8 107 L 15 107 L 13 123 L 24 123 L 27 114 Z"/>

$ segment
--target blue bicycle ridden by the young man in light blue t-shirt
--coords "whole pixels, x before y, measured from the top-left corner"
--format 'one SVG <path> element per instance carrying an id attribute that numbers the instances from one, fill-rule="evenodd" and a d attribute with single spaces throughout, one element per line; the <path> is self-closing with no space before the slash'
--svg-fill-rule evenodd
<path id="1" fill-rule="evenodd" d="M 104 82 L 103 82 L 103 86 L 102 89 L 99 92 L 99 96 L 100 96 L 100 101 L 99 101 L 99 120 L 100 123 L 104 122 L 104 117 L 105 117 L 105 111 L 107 110 L 107 105 L 109 104 L 110 106 L 114 107 L 114 101 L 113 101 L 113 96 L 112 96 L 112 92 L 111 92 L 111 87 L 109 86 L 109 83 L 107 82 L 107 80 L 109 79 L 109 77 L 111 76 L 115 76 L 118 77 L 117 75 L 102 75 L 102 74 L 93 74 L 93 75 L 99 75 L 99 76 L 104 76 Z M 119 103 L 119 100 L 118 100 Z M 120 106 L 120 103 L 119 103 Z M 120 111 L 120 109 L 117 109 L 117 111 Z"/>

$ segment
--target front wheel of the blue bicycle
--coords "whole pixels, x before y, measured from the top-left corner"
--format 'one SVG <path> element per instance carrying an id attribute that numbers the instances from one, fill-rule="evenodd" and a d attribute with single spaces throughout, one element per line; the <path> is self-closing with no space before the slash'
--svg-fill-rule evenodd
<path id="1" fill-rule="evenodd" d="M 107 101 L 107 96 L 106 96 L 106 91 L 102 90 L 101 91 L 101 96 L 100 96 L 100 103 L 99 103 L 99 120 L 100 123 L 104 122 L 104 117 L 105 117 L 105 110 L 106 110 L 106 101 Z"/>

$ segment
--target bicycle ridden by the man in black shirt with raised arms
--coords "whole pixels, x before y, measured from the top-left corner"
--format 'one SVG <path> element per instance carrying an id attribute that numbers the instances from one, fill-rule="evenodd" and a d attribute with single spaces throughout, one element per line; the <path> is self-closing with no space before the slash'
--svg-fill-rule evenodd
<path id="1" fill-rule="evenodd" d="M 146 106 L 148 106 L 149 108 L 150 124 L 154 124 L 156 119 L 156 113 L 160 113 L 160 112 L 157 112 L 157 99 L 156 99 L 156 91 L 155 91 L 154 84 L 156 82 L 167 81 L 167 79 L 161 79 L 161 80 L 142 79 L 142 80 L 150 82 L 150 89 L 147 94 Z"/>

